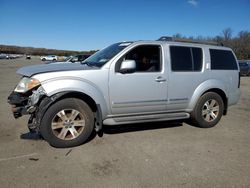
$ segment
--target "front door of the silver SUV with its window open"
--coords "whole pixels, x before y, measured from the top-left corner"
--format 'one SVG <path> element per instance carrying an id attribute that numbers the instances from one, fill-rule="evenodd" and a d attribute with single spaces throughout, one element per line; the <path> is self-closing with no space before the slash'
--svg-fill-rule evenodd
<path id="1" fill-rule="evenodd" d="M 136 69 L 121 73 L 124 60 L 134 60 Z M 113 115 L 166 111 L 167 77 L 160 45 L 136 46 L 110 69 L 110 108 Z"/>

